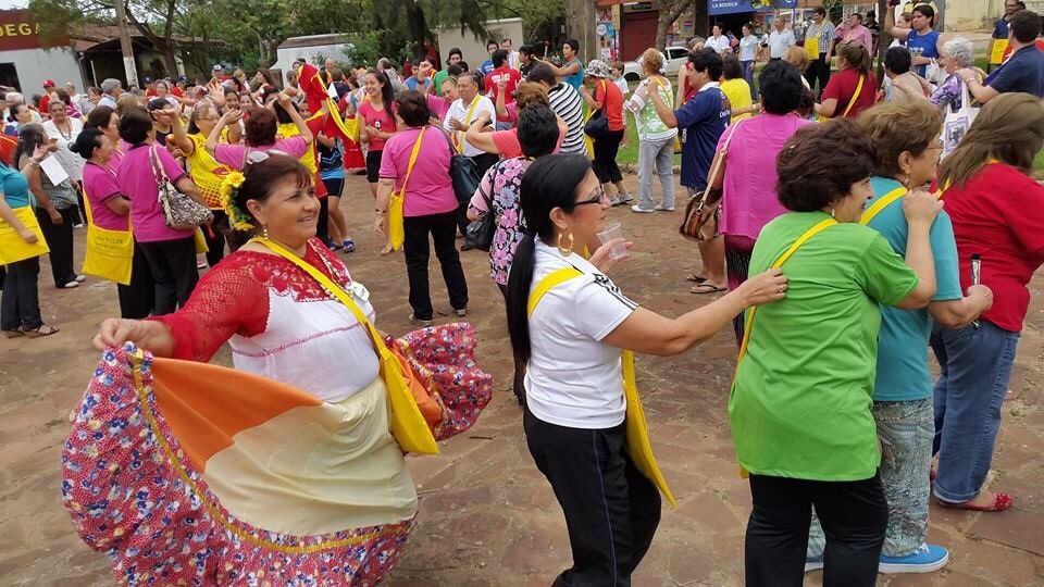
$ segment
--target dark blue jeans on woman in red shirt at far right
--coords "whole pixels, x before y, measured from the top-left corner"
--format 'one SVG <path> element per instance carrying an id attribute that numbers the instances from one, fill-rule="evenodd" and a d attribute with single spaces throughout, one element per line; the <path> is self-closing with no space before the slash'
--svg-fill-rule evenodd
<path id="1" fill-rule="evenodd" d="M 960 503 L 979 495 L 990 472 L 1019 333 L 985 320 L 979 329 L 936 325 L 931 344 L 942 371 L 935 383 L 935 497 Z"/>

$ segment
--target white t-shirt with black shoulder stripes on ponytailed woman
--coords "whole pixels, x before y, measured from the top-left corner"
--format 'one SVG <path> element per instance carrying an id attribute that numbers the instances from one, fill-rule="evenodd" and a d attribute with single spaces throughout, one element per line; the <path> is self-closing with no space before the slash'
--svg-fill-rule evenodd
<path id="1" fill-rule="evenodd" d="M 638 304 L 581 255 L 536 241 L 532 287 L 572 265 L 584 275 L 551 288 L 530 316 L 532 357 L 526 405 L 559 426 L 599 429 L 621 424 L 627 404 L 617 347 L 601 342 Z"/>

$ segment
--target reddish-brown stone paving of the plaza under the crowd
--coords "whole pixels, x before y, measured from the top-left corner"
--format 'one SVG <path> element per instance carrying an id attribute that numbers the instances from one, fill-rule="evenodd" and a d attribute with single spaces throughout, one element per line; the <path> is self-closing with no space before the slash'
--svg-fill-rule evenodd
<path id="1" fill-rule="evenodd" d="M 633 184 L 634 177 L 627 182 Z M 399 254 L 381 257 L 369 229 L 365 185 L 349 178 L 345 203 L 359 250 L 347 255 L 357 279 L 373 291 L 381 326 L 408 329 L 406 271 Z M 683 276 L 697 264 L 696 248 L 676 234 L 681 213 L 613 210 L 635 241 L 616 283 L 646 308 L 670 316 L 711 298 L 687 292 Z M 77 232 L 83 255 L 83 232 Z M 521 412 L 506 391 L 510 348 L 500 294 L 488 278 L 486 255 L 462 253 L 471 288 L 471 320 L 481 334 L 483 365 L 498 394 L 478 424 L 446 442 L 443 454 L 410 459 L 421 512 L 417 532 L 389 585 L 546 586 L 569 564 L 561 511 L 525 448 Z M 437 264 L 432 264 L 436 312 L 449 313 Z M 97 361 L 90 338 L 101 319 L 116 313 L 111 284 L 88 279 L 77 290 L 50 287 L 40 276 L 46 320 L 62 333 L 39 340 L 0 339 L 0 585 L 110 585 L 107 559 L 75 536 L 59 492 L 61 444 L 69 411 Z M 931 539 L 952 549 L 941 573 L 881 576 L 881 585 L 1044 585 L 1044 291 L 1037 282 L 1027 329 L 1004 407 L 994 460 L 995 488 L 1015 495 L 1000 514 L 932 509 Z M 437 322 L 447 322 L 438 317 Z M 638 567 L 639 586 L 742 584 L 743 533 L 750 509 L 737 476 L 725 414 L 735 342 L 731 329 L 678 358 L 639 357 L 657 458 L 675 496 L 652 547 Z M 228 364 L 227 352 L 219 362 Z M 820 574 L 808 585 L 821 584 Z"/>

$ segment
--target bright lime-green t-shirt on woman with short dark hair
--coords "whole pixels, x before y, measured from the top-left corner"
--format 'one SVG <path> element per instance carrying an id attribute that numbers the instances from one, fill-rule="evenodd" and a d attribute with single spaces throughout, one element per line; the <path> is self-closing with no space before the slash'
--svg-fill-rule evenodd
<path id="1" fill-rule="evenodd" d="M 750 275 L 761 273 L 823 212 L 784 214 L 761 230 Z M 871 414 L 881 310 L 917 275 L 880 233 L 830 226 L 783 264 L 786 299 L 758 309 L 729 398 L 736 457 L 759 475 L 860 480 L 880 463 Z"/>

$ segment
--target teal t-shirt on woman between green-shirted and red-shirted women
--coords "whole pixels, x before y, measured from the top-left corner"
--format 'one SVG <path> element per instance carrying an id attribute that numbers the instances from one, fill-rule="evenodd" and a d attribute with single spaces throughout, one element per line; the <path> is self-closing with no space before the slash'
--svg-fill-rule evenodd
<path id="1" fill-rule="evenodd" d="M 903 187 L 895 179 L 885 177 L 872 177 L 870 185 L 873 186 L 873 198 L 867 203 L 868 208 L 890 191 Z M 881 233 L 896 253 L 906 257 L 909 225 L 903 214 L 903 198 L 881 210 L 869 226 Z M 957 271 L 957 242 L 946 212 L 935 218 L 930 238 L 935 259 L 935 297 L 932 300 L 959 300 L 962 296 Z M 931 334 L 932 315 L 927 309 L 899 310 L 881 305 L 874 401 L 912 401 L 932 397 L 932 374 L 928 370 L 928 338 Z"/>

